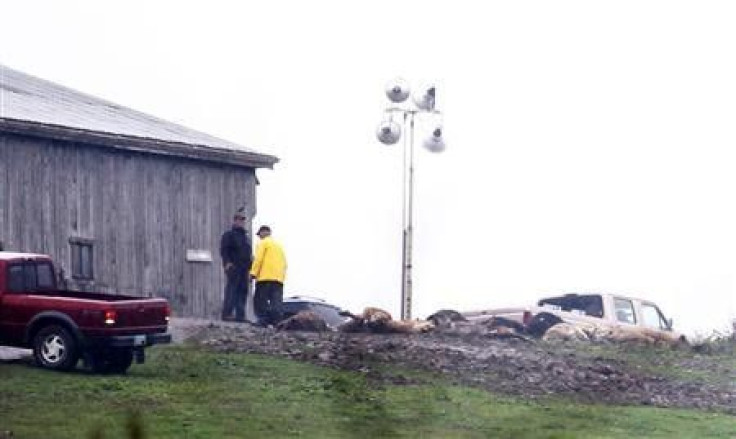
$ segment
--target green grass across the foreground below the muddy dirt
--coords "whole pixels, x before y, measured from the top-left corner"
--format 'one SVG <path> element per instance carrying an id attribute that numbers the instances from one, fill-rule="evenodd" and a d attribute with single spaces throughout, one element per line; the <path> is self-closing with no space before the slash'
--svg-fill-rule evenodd
<path id="1" fill-rule="evenodd" d="M 0 434 L 16 438 L 732 438 L 736 417 L 522 401 L 193 347 L 157 347 L 127 376 L 0 364 Z M 421 382 L 412 379 L 410 382 Z M 137 415 L 136 415 L 137 414 Z"/>

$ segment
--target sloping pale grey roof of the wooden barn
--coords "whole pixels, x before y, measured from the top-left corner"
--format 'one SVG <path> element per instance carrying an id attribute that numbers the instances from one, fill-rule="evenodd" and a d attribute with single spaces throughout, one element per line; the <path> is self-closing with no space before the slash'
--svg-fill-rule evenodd
<path id="1" fill-rule="evenodd" d="M 255 168 L 278 158 L 0 64 L 0 131 Z"/>

